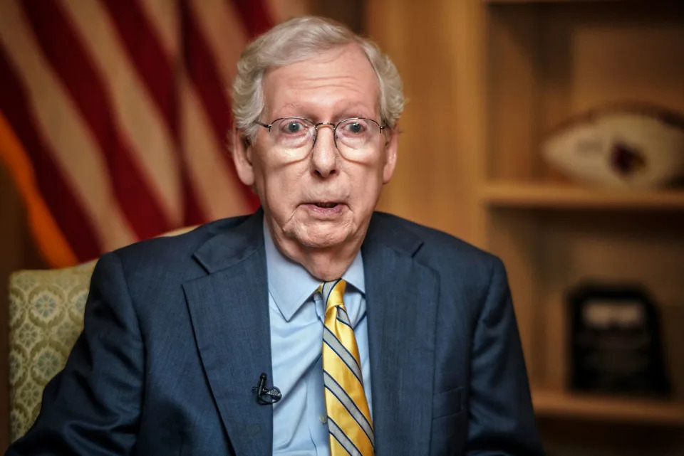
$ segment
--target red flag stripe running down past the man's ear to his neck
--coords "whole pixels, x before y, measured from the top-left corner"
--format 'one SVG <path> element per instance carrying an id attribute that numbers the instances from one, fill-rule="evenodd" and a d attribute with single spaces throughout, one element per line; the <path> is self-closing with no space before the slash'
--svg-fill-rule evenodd
<path id="1" fill-rule="evenodd" d="M 199 99 L 207 111 L 214 135 L 219 144 L 226 144 L 227 132 L 231 127 L 230 104 L 227 100 L 227 88 L 219 78 L 219 71 L 212 57 L 207 43 L 204 42 L 202 31 L 197 26 L 197 21 L 192 14 L 189 0 L 180 0 L 181 4 L 181 29 L 183 31 L 183 57 L 187 73 L 195 84 Z M 231 157 L 226 152 L 225 166 L 232 179 L 237 180 Z M 249 206 L 256 208 L 258 201 L 254 193 L 242 186 L 244 198 L 249 201 Z"/>

